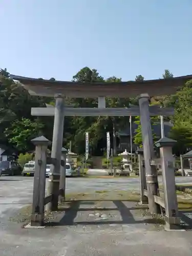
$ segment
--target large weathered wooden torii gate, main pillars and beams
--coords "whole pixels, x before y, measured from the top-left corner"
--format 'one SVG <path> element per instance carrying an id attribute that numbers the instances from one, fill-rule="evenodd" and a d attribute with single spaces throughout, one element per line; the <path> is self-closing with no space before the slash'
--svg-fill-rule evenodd
<path id="1" fill-rule="evenodd" d="M 149 106 L 151 96 L 174 94 L 177 89 L 192 75 L 131 82 L 65 82 L 50 81 L 20 76 L 10 76 L 20 81 L 31 95 L 55 97 L 55 108 L 32 108 L 34 116 L 54 116 L 53 143 L 51 157 L 54 164 L 50 170 L 50 193 L 52 194 L 51 210 L 57 210 L 59 195 L 59 179 L 61 164 L 61 147 L 63 125 L 65 116 L 134 116 L 140 115 L 143 151 L 146 170 L 146 184 L 148 191 L 148 206 L 152 213 L 159 212 L 159 205 L 154 201 L 154 195 L 158 195 L 157 170 L 151 165 L 155 158 L 153 136 L 150 116 L 173 115 L 173 109 L 162 109 L 158 106 Z M 138 96 L 139 107 L 132 108 L 105 108 L 105 97 L 136 97 Z M 98 108 L 65 108 L 64 98 L 96 98 Z"/>

